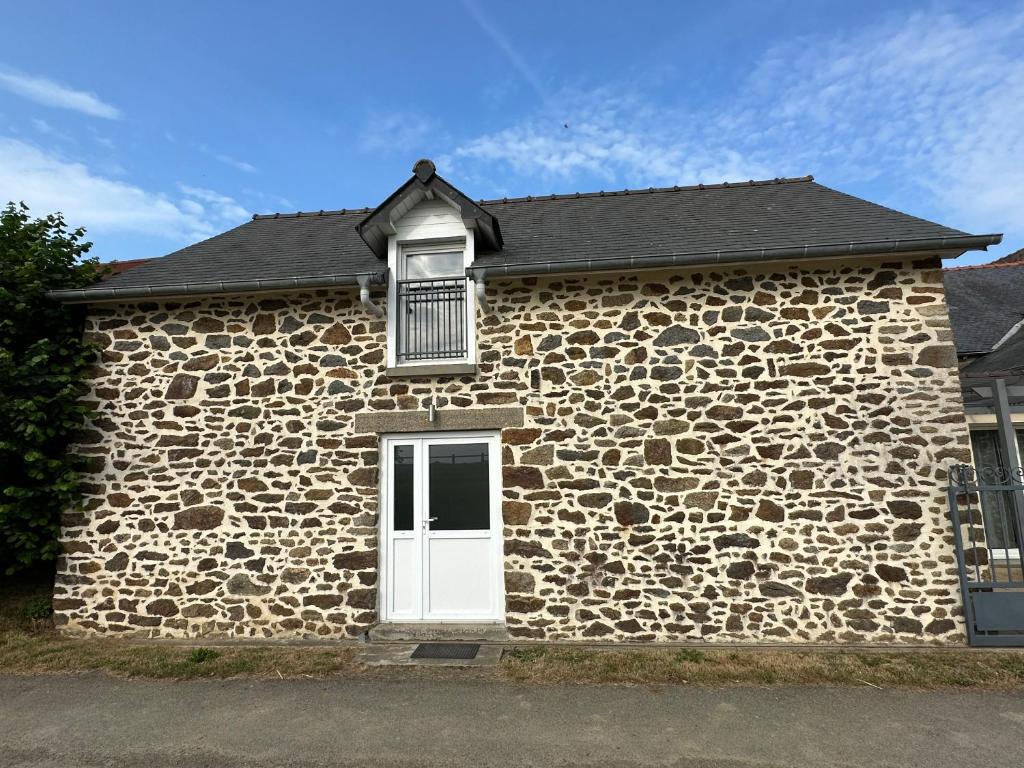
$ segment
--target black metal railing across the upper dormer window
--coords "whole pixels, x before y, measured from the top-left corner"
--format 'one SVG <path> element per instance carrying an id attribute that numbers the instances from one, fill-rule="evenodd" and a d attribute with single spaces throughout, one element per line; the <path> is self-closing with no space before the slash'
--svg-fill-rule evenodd
<path id="1" fill-rule="evenodd" d="M 398 364 L 465 358 L 466 280 L 400 280 L 397 288 Z"/>

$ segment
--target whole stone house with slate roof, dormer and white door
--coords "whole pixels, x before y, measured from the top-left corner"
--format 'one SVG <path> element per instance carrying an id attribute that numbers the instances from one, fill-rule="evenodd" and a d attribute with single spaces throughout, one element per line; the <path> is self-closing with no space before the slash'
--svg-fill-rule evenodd
<path id="1" fill-rule="evenodd" d="M 255 216 L 101 353 L 63 631 L 963 643 L 942 259 L 811 177 Z"/>

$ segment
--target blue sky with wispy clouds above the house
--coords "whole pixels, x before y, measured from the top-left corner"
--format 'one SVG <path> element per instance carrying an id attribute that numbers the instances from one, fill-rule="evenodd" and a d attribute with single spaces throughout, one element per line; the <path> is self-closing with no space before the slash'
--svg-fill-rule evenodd
<path id="1" fill-rule="evenodd" d="M 1024 1 L 32 3 L 0 199 L 103 260 L 254 212 L 813 173 L 1024 248 Z"/>

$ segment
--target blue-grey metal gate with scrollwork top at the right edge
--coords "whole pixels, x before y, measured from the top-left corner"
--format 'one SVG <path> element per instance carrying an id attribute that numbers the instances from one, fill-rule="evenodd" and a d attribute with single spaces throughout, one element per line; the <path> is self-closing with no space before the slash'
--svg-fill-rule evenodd
<path id="1" fill-rule="evenodd" d="M 948 494 L 968 642 L 1024 646 L 1024 470 L 956 465 Z"/>

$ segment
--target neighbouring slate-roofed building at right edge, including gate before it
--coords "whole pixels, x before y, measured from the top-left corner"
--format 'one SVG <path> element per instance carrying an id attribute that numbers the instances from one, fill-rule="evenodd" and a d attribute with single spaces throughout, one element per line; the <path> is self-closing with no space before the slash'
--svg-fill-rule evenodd
<path id="1" fill-rule="evenodd" d="M 966 522 L 959 549 L 974 644 L 1024 645 L 1022 257 L 945 271 L 974 454 L 973 469 L 954 477 L 950 497 Z"/>

